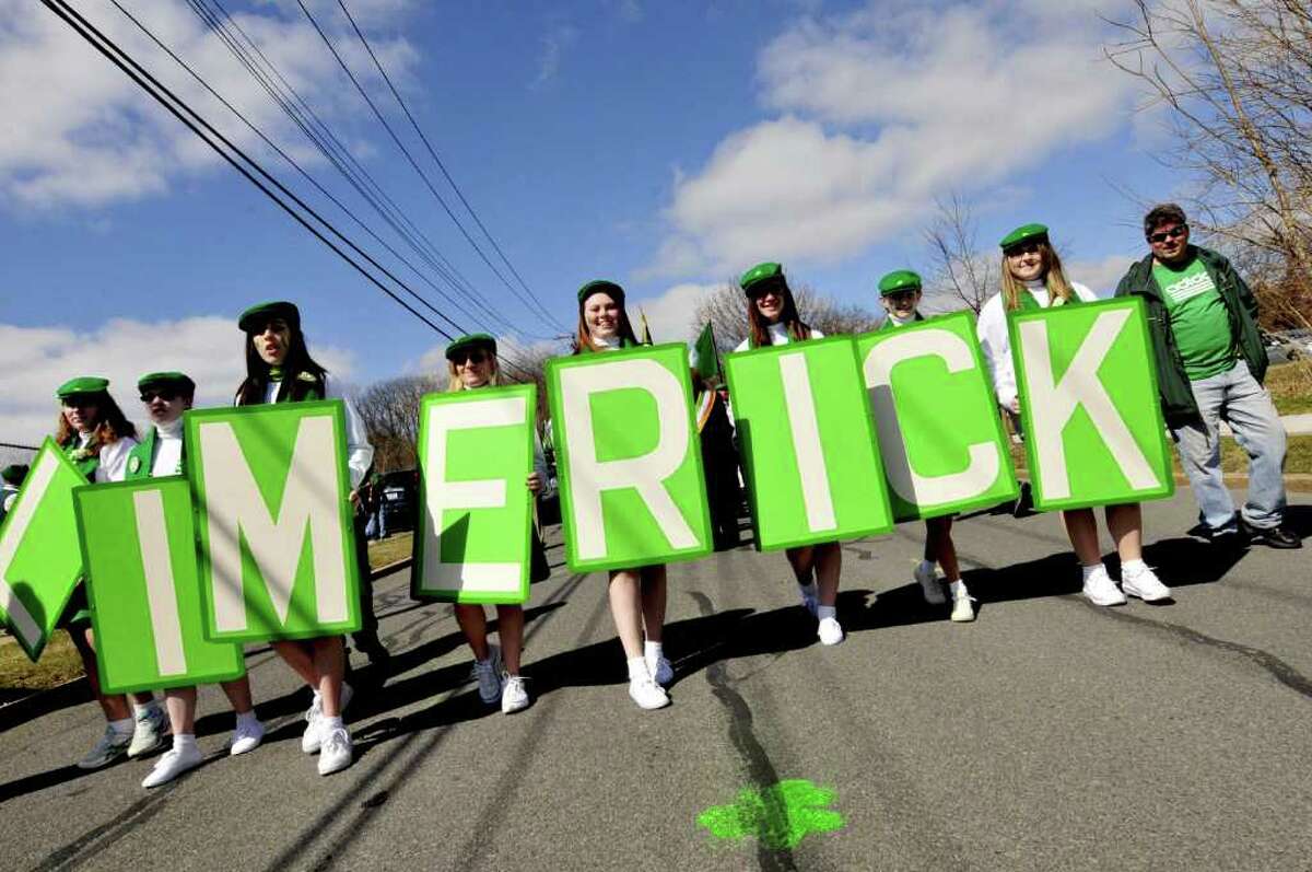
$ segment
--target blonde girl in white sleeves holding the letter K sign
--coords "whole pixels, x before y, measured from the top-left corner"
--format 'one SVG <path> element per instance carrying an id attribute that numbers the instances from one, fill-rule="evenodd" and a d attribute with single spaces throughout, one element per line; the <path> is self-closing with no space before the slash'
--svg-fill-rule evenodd
<path id="1" fill-rule="evenodd" d="M 1019 432 L 1021 401 L 1017 395 L 1012 344 L 1006 315 L 1013 311 L 1069 306 L 1097 299 L 1084 285 L 1069 281 L 1061 259 L 1048 240 L 1043 225 L 1017 227 L 1000 243 L 1002 248 L 1002 290 L 980 310 L 976 327 L 980 348 L 993 377 L 998 404 Z M 1107 532 L 1120 554 L 1120 588 L 1102 565 L 1098 521 L 1092 508 L 1060 512 L 1061 523 L 1084 571 L 1084 596 L 1094 605 L 1123 605 L 1126 594 L 1156 603 L 1170 599 L 1170 588 L 1143 561 L 1143 513 L 1139 503 L 1107 506 Z"/>

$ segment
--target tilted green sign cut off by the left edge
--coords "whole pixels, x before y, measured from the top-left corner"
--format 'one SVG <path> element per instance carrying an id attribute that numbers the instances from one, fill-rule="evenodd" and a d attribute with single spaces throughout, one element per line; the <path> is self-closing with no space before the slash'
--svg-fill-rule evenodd
<path id="1" fill-rule="evenodd" d="M 0 528 L 0 620 L 33 662 L 83 571 L 73 489 L 85 483 L 47 439 Z"/>

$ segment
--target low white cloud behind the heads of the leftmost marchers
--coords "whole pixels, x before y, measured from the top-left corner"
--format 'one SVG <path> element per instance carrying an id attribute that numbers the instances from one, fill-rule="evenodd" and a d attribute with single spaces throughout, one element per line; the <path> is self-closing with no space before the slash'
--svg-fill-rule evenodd
<path id="1" fill-rule="evenodd" d="M 319 344 L 311 351 L 333 377 L 352 377 L 352 352 Z M 243 355 L 243 335 L 231 318 L 117 318 L 92 332 L 0 323 L 0 441 L 39 444 L 58 416 L 55 389 L 75 376 L 109 378 L 114 399 L 138 424 L 146 418 L 136 380 L 147 372 L 176 369 L 190 376 L 197 406 L 231 404 L 245 377 Z"/>

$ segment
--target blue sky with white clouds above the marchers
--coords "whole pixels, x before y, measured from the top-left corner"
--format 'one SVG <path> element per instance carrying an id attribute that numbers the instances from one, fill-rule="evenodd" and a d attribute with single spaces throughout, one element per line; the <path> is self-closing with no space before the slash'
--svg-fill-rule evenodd
<path id="1" fill-rule="evenodd" d="M 73 5 L 295 179 L 113 5 Z M 182 0 L 125 5 L 384 232 Z M 226 5 L 518 338 L 552 332 L 463 240 L 297 4 Z M 310 5 L 437 180 L 336 0 Z M 657 339 L 685 339 L 697 298 L 762 259 L 872 305 L 880 273 L 929 268 L 922 229 L 953 192 L 981 242 L 1043 221 L 1076 277 L 1107 286 L 1141 250 L 1138 207 L 1109 180 L 1145 197 L 1183 184 L 1148 154 L 1162 139 L 1135 113 L 1134 83 L 1099 59 L 1109 34 L 1097 13 L 1118 3 L 346 5 L 567 326 L 575 289 L 607 276 L 644 301 Z M 440 360 L 445 340 L 28 0 L 0 0 L 0 97 L 16 120 L 0 131 L 0 440 L 39 437 L 54 386 L 83 372 L 110 374 L 127 401 L 136 374 L 184 368 L 203 401 L 224 402 L 240 372 L 234 319 L 258 299 L 302 303 L 312 349 L 354 383 Z"/>

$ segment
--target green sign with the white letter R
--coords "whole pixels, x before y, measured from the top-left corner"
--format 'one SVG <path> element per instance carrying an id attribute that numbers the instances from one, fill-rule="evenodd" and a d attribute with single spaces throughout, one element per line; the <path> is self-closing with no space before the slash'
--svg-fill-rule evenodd
<path id="1" fill-rule="evenodd" d="M 711 552 L 682 344 L 547 362 L 565 557 L 575 573 Z"/>

